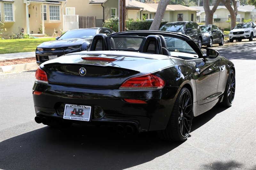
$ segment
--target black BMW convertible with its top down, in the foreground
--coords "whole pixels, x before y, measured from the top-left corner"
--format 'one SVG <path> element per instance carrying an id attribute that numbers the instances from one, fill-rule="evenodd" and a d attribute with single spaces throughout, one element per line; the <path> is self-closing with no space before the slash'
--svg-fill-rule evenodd
<path id="1" fill-rule="evenodd" d="M 184 141 L 192 119 L 235 96 L 234 64 L 186 35 L 96 34 L 90 49 L 42 63 L 33 87 L 37 123 L 109 124 Z"/>

